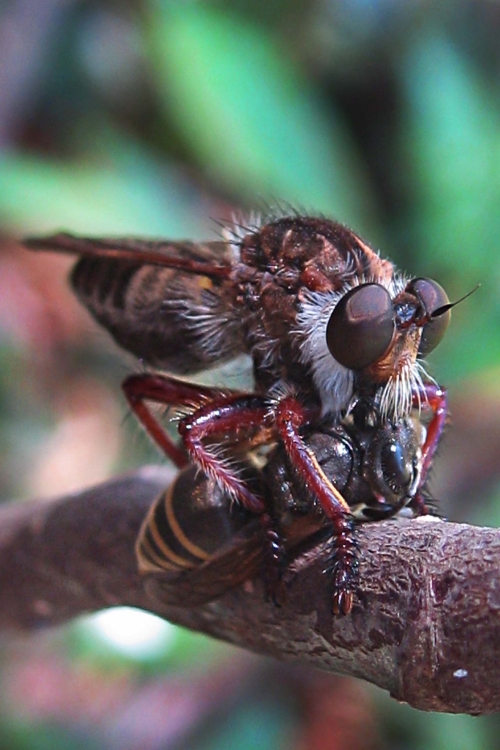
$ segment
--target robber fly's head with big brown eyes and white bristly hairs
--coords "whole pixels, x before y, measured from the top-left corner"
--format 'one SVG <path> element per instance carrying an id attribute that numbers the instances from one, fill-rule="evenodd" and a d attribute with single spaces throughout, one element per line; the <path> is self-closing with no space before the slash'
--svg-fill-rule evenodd
<path id="1" fill-rule="evenodd" d="M 338 411 L 366 393 L 374 396 L 384 419 L 408 415 L 413 395 L 423 390 L 422 360 L 450 321 L 452 305 L 444 289 L 432 279 L 408 281 L 395 272 L 378 281 L 356 279 L 321 301 L 311 295 L 305 309 L 308 305 L 305 356 L 323 412 Z"/>

